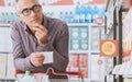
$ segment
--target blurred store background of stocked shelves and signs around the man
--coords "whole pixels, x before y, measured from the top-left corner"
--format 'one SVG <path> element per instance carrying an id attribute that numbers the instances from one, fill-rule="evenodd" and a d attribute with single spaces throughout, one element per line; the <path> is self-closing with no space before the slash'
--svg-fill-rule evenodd
<path id="1" fill-rule="evenodd" d="M 132 82 L 132 0 L 38 1 L 45 15 L 68 24 L 67 71 L 89 82 Z M 13 0 L 0 0 L 0 82 L 15 81 L 10 24 L 18 20 Z"/>

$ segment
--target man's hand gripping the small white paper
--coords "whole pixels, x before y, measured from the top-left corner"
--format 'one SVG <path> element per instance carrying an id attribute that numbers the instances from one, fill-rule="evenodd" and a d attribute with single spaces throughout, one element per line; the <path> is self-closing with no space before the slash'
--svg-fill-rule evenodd
<path id="1" fill-rule="evenodd" d="M 45 57 L 40 52 L 32 52 L 31 54 L 31 63 L 35 67 L 42 66 L 44 62 Z"/>

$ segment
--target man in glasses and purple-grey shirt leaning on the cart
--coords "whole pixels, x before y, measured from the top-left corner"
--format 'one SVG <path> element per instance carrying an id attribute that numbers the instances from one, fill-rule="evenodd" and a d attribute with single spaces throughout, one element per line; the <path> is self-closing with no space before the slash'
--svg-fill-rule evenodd
<path id="1" fill-rule="evenodd" d="M 15 69 L 46 71 L 53 68 L 65 72 L 68 65 L 67 24 L 43 15 L 37 0 L 15 0 L 15 4 L 20 19 L 11 25 Z M 40 51 L 53 51 L 53 63 L 44 63 L 45 57 Z"/>

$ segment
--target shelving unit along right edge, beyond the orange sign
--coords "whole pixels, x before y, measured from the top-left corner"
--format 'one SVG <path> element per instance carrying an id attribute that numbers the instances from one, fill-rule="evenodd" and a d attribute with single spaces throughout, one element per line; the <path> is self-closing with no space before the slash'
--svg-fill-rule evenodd
<path id="1" fill-rule="evenodd" d="M 108 0 L 109 2 L 111 0 Z M 131 63 L 131 9 L 130 3 L 131 0 L 112 0 L 112 7 L 114 8 L 113 14 L 113 39 L 119 40 L 119 57 L 114 58 L 113 65 L 116 71 L 117 67 L 119 70 L 114 72 L 114 82 L 131 82 L 131 75 L 128 75 L 127 71 L 131 71 L 131 69 L 127 69 Z M 118 3 L 116 3 L 118 1 Z M 116 4 L 116 5 L 114 5 Z M 128 16 L 129 15 L 129 16 Z M 127 46 L 128 45 L 128 46 Z M 127 55 L 127 56 L 125 56 Z M 125 65 L 125 66 L 124 66 Z M 120 67 L 119 67 L 120 66 Z M 131 67 L 131 66 L 130 66 Z M 125 69 L 124 69 L 125 68 Z M 116 78 L 116 75 L 119 75 Z M 129 79 L 129 80 L 128 80 Z"/>

